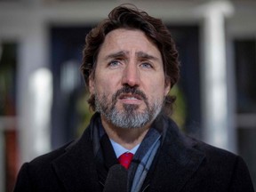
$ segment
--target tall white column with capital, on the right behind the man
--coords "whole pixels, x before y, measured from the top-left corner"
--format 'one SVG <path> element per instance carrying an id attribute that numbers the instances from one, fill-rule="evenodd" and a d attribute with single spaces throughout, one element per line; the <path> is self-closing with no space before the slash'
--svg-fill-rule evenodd
<path id="1" fill-rule="evenodd" d="M 207 143 L 230 149 L 225 16 L 233 10 L 227 1 L 211 1 L 204 12 L 202 62 L 203 137 Z"/>

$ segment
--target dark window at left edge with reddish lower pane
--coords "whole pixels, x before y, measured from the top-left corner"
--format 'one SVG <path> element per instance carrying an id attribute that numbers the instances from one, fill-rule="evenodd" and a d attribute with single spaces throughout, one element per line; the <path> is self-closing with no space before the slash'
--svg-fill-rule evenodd
<path id="1" fill-rule="evenodd" d="M 17 44 L 0 43 L 0 190 L 12 191 L 17 174 Z M 3 143 L 3 145 L 2 145 Z M 5 190 L 4 190 L 5 188 Z"/>

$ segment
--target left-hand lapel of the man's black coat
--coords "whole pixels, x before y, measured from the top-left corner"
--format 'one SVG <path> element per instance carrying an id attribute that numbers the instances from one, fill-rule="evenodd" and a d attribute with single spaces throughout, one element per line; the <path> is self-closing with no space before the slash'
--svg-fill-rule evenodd
<path id="1" fill-rule="evenodd" d="M 67 152 L 52 165 L 67 191 L 100 191 L 89 130 L 84 132 L 80 140 L 71 144 Z"/>

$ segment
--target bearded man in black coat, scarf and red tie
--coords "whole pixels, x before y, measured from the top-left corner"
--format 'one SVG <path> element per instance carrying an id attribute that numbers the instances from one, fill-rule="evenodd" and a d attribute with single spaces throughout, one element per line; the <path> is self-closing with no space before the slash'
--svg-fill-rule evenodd
<path id="1" fill-rule="evenodd" d="M 14 191 L 253 191 L 241 157 L 183 135 L 166 116 L 179 61 L 161 20 L 116 7 L 86 36 L 82 71 L 90 125 L 23 164 Z"/>

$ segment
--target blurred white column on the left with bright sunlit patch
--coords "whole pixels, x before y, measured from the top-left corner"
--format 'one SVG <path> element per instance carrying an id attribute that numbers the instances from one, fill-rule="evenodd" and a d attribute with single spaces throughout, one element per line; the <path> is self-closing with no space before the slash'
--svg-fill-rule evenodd
<path id="1" fill-rule="evenodd" d="M 18 114 L 20 164 L 51 149 L 52 75 L 48 68 L 48 36 L 31 12 L 20 42 Z M 31 20 L 30 20 L 31 19 Z"/>

